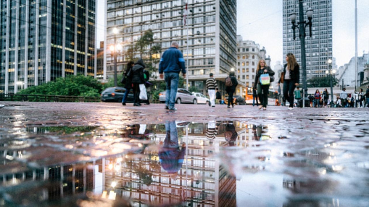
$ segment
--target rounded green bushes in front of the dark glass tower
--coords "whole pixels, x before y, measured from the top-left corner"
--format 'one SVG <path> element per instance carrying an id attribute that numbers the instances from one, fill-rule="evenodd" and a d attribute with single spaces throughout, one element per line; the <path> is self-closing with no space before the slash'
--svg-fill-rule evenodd
<path id="1" fill-rule="evenodd" d="M 60 77 L 55 81 L 28 87 L 17 94 L 99 97 L 102 89 L 103 86 L 97 79 L 80 74 L 65 78 Z"/>

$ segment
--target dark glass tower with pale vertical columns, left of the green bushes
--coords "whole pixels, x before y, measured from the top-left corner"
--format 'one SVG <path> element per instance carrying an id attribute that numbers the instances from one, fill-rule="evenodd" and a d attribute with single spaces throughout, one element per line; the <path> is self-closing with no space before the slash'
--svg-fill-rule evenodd
<path id="1" fill-rule="evenodd" d="M 0 93 L 96 76 L 95 0 L 2 0 Z"/>

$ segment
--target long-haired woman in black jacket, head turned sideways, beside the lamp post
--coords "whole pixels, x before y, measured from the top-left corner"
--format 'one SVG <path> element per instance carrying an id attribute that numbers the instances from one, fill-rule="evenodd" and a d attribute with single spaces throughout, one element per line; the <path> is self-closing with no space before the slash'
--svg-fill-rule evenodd
<path id="1" fill-rule="evenodd" d="M 283 96 L 290 102 L 288 109 L 293 109 L 293 91 L 299 85 L 300 66 L 292 53 L 286 55 L 286 62 L 287 64 L 283 68 L 283 76 L 279 79 L 278 85 L 283 80 Z"/>

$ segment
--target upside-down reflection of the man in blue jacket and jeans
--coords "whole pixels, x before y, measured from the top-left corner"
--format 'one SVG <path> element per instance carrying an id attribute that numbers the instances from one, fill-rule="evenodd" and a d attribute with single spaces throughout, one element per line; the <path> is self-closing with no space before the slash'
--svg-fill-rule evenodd
<path id="1" fill-rule="evenodd" d="M 182 143 L 182 150 L 180 150 L 177 126 L 174 121 L 166 122 L 165 130 L 165 140 L 160 142 L 160 144 L 163 144 L 163 147 L 159 150 L 159 161 L 163 169 L 170 174 L 170 178 L 176 180 L 186 153 L 186 143 Z"/>

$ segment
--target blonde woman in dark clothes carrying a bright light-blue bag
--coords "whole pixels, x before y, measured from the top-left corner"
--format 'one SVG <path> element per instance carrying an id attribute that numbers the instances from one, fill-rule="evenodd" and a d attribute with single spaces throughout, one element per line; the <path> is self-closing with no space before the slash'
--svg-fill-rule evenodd
<path id="1" fill-rule="evenodd" d="M 266 74 L 268 74 L 269 80 L 268 77 L 265 76 Z M 264 76 L 267 78 L 266 80 L 263 79 Z M 259 60 L 254 81 L 254 90 L 258 90 L 258 97 L 261 102 L 259 109 L 263 108 L 263 110 L 266 110 L 271 76 L 274 76 L 274 71 L 266 65 L 265 60 Z"/>

